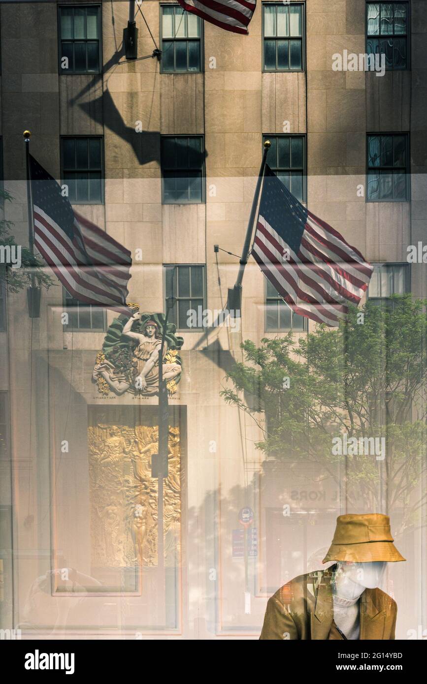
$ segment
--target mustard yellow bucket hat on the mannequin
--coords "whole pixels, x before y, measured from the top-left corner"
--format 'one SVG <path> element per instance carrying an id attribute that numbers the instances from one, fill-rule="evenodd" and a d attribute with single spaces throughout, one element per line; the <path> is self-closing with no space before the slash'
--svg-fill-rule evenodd
<path id="1" fill-rule="evenodd" d="M 390 518 L 381 513 L 340 515 L 331 547 L 323 559 L 353 563 L 406 560 L 393 544 Z"/>

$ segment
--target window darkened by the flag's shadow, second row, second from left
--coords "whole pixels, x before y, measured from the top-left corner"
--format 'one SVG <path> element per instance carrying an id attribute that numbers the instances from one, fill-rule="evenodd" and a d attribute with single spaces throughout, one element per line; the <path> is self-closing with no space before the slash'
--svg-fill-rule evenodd
<path id="1" fill-rule="evenodd" d="M 205 145 L 203 135 L 161 137 L 162 201 L 200 204 L 205 201 Z"/>

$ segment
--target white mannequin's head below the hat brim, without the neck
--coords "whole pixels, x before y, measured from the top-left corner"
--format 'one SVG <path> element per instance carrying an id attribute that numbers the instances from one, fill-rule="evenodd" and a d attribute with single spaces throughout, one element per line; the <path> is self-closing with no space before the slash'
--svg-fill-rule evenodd
<path id="1" fill-rule="evenodd" d="M 365 589 L 375 589 L 383 578 L 386 562 L 352 563 L 338 561 L 333 588 L 337 594 L 353 598 Z"/>

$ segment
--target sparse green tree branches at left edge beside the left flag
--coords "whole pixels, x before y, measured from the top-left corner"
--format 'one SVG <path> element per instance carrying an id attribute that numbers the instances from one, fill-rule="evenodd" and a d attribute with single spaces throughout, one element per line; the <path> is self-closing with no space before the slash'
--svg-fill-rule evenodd
<path id="1" fill-rule="evenodd" d="M 12 202 L 12 196 L 3 188 L 0 188 L 0 202 Z M 0 248 L 12 248 L 17 246 L 17 242 L 11 231 L 14 227 L 12 221 L 0 220 Z M 4 252 L 4 250 L 1 250 Z M 19 292 L 23 287 L 31 285 L 31 274 L 36 276 L 36 282 L 40 287 L 49 289 L 53 285 L 53 280 L 47 272 L 47 267 L 29 248 L 21 246 L 21 267 L 12 268 L 10 265 L 0 263 L 0 285 L 4 285 L 9 292 Z"/>

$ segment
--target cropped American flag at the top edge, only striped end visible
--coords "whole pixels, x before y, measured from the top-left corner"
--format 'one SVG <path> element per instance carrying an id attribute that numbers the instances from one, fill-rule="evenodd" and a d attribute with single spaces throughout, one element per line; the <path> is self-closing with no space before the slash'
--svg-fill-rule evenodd
<path id="1" fill-rule="evenodd" d="M 235 34 L 247 34 L 257 0 L 178 0 L 183 10 Z"/>

